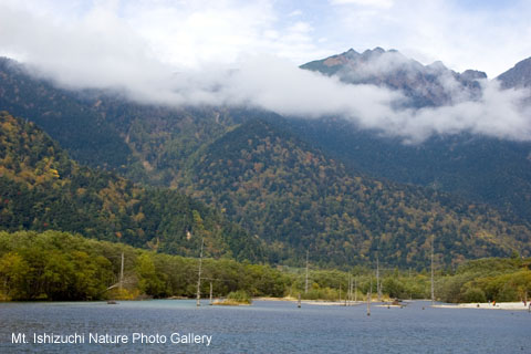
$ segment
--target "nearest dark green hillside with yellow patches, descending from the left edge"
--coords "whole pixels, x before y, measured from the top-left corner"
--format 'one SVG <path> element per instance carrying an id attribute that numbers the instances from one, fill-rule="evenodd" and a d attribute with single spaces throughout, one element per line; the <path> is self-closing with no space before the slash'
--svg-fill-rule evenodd
<path id="1" fill-rule="evenodd" d="M 0 113 L 0 229 L 79 232 L 158 251 L 260 261 L 261 244 L 189 197 L 72 162 L 33 123 Z"/>

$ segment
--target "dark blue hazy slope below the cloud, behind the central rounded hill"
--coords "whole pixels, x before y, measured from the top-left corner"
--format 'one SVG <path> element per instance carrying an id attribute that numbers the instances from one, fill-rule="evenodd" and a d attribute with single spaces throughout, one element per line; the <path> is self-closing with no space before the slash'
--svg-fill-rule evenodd
<path id="1" fill-rule="evenodd" d="M 531 144 L 471 134 L 416 145 L 357 129 L 341 118 L 290 119 L 290 128 L 357 171 L 425 186 L 531 220 Z"/>

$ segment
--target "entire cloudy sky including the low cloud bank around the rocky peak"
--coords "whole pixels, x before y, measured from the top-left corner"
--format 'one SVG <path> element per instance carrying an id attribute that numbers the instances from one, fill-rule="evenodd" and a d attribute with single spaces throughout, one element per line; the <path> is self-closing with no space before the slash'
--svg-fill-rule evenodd
<path id="1" fill-rule="evenodd" d="M 381 46 L 496 77 L 531 56 L 529 13 L 529 0 L 0 0 L 0 55 L 137 101 L 343 115 L 408 142 L 461 131 L 529 140 L 528 93 L 496 82 L 478 102 L 397 111 L 399 92 L 298 69 Z"/>

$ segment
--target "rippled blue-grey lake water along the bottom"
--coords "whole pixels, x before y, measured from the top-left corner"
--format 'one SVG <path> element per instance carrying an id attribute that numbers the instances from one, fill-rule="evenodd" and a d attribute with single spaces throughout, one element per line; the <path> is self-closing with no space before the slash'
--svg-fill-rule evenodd
<path id="1" fill-rule="evenodd" d="M 13 333 L 29 343 L 11 343 Z M 76 343 L 33 343 L 52 333 Z M 88 343 L 116 339 L 127 343 Z M 531 353 L 531 313 L 431 309 L 425 302 L 373 306 L 371 316 L 364 305 L 298 309 L 280 301 L 240 308 L 205 302 L 199 309 L 187 300 L 0 303 L 0 353 L 35 352 Z"/>

